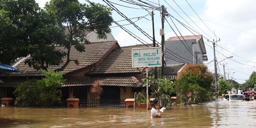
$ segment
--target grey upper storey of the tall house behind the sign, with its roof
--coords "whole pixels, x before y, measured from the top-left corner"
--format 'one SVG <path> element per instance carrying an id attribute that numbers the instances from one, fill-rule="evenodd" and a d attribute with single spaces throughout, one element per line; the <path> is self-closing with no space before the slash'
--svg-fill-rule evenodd
<path id="1" fill-rule="evenodd" d="M 166 64 L 208 61 L 202 35 L 169 37 L 165 41 Z"/>

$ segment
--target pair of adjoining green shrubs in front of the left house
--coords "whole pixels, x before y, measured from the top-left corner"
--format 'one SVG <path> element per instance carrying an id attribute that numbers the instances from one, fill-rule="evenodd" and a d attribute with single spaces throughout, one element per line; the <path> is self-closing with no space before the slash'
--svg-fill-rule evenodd
<path id="1" fill-rule="evenodd" d="M 61 99 L 61 83 L 65 82 L 60 72 L 52 70 L 43 71 L 42 80 L 28 80 L 16 88 L 17 102 L 19 106 L 44 106 L 50 107 L 54 101 Z"/>

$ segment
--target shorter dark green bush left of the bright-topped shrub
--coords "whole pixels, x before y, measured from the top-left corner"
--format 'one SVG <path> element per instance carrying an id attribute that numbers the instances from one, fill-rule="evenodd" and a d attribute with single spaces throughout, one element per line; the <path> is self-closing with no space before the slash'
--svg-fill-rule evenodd
<path id="1" fill-rule="evenodd" d="M 27 80 L 18 85 L 13 92 L 16 95 L 15 104 L 21 107 L 35 107 L 39 105 L 40 91 L 37 86 L 37 80 Z"/>

